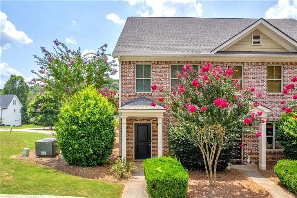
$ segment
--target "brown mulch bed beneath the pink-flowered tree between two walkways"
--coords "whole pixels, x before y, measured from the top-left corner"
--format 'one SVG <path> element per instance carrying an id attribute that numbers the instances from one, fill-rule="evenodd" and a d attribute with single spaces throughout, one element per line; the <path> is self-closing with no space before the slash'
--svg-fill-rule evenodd
<path id="1" fill-rule="evenodd" d="M 206 172 L 189 171 L 187 197 L 269 197 L 271 194 L 243 173 L 231 169 L 217 172 L 217 185 L 209 186 Z"/>

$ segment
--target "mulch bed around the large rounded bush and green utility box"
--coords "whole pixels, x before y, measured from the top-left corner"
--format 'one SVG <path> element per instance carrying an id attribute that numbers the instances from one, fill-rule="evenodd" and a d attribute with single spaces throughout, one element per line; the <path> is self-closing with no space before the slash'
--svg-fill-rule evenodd
<path id="1" fill-rule="evenodd" d="M 116 161 L 119 156 L 119 129 L 116 128 L 116 143 L 113 148 L 113 154 L 108 158 L 110 163 Z M 53 158 L 36 158 L 35 150 L 30 151 L 29 157 L 22 157 L 22 155 L 15 155 L 12 158 L 20 160 L 31 161 L 42 166 L 51 167 L 62 172 L 76 175 L 78 177 L 85 177 L 89 179 L 97 179 L 112 183 L 127 183 L 129 178 L 117 179 L 110 173 L 110 163 L 103 164 L 97 167 L 82 167 L 82 166 L 71 166 L 60 158 L 60 155 L 56 155 Z"/>

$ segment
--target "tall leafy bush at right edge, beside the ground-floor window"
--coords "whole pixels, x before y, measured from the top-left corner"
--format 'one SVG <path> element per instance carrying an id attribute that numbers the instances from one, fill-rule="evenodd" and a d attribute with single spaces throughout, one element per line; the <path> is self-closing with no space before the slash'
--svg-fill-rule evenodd
<path id="1" fill-rule="evenodd" d="M 296 113 L 293 115 L 297 116 Z M 282 114 L 276 125 L 275 140 L 285 149 L 288 159 L 297 160 L 297 119 L 290 114 Z"/>

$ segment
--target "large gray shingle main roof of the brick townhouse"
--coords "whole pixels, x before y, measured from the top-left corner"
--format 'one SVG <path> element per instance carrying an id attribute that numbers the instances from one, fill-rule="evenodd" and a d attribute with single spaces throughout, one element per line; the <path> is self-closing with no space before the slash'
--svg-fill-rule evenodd
<path id="1" fill-rule="evenodd" d="M 128 17 L 113 53 L 200 54 L 259 19 Z M 265 19 L 297 40 L 297 20 Z"/>

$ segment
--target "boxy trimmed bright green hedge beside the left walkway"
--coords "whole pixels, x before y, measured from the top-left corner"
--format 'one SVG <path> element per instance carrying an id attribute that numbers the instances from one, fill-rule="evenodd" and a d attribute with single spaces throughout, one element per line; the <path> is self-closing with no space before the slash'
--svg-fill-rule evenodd
<path id="1" fill-rule="evenodd" d="M 186 197 L 189 174 L 181 163 L 171 157 L 143 161 L 146 191 L 152 197 Z"/>

